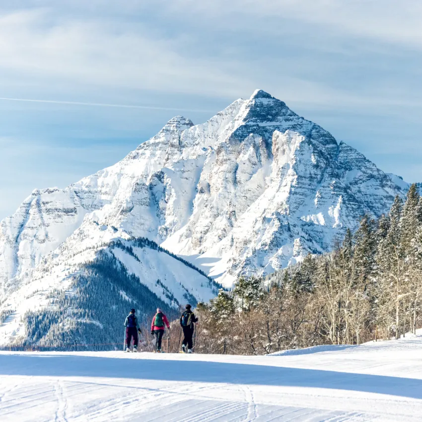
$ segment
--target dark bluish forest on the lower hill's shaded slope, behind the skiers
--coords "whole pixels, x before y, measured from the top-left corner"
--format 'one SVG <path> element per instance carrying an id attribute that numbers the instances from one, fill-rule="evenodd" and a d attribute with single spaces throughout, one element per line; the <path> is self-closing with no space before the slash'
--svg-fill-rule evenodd
<path id="1" fill-rule="evenodd" d="M 122 350 L 123 322 L 132 307 L 144 334 L 157 307 L 169 318 L 179 314 L 105 250 L 82 266 L 69 290 L 54 290 L 49 299 L 47 308 L 22 316 L 26 337 L 0 349 Z M 142 340 L 152 350 L 152 339 Z"/>

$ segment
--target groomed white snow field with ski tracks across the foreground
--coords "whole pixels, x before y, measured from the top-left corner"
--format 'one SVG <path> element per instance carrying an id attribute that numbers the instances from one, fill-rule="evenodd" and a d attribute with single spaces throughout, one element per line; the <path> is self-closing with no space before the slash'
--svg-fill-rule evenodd
<path id="1" fill-rule="evenodd" d="M 421 421 L 422 337 L 271 356 L 0 352 L 0 421 Z"/>

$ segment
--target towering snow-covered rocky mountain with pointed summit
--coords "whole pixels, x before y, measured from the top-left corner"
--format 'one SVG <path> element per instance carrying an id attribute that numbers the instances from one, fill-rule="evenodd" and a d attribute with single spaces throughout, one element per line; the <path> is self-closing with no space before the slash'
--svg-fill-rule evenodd
<path id="1" fill-rule="evenodd" d="M 75 230 L 93 243 L 99 227 L 147 237 L 230 285 L 330 249 L 406 187 L 257 90 L 204 124 L 171 119 L 122 161 L 66 189 L 35 190 L 1 222 L 0 300 L 49 253 L 75 247 Z"/>

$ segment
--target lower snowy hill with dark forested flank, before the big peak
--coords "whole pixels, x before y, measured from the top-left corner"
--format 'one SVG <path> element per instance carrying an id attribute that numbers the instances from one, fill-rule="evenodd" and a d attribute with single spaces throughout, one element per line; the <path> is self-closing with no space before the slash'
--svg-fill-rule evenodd
<path id="1" fill-rule="evenodd" d="M 204 274 L 157 250 L 158 245 L 111 239 L 114 230 L 96 227 L 101 242 L 99 237 L 94 244 L 81 239 L 76 231 L 59 254 L 43 259 L 29 281 L 10 287 L 0 304 L 0 315 L 7 315 L 0 321 L 0 346 L 69 349 L 76 343 L 92 344 L 91 334 L 113 343 L 122 332 L 122 315 L 131 307 L 142 322 L 149 321 L 157 306 L 174 317 L 186 302 L 208 301 L 218 292 Z"/>

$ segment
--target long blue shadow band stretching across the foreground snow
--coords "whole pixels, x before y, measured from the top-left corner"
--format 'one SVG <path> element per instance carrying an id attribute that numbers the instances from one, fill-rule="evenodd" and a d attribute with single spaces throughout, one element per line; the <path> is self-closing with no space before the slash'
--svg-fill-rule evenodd
<path id="1" fill-rule="evenodd" d="M 0 354 L 0 375 L 84 376 L 317 387 L 422 399 L 422 380 L 242 363 Z"/>

